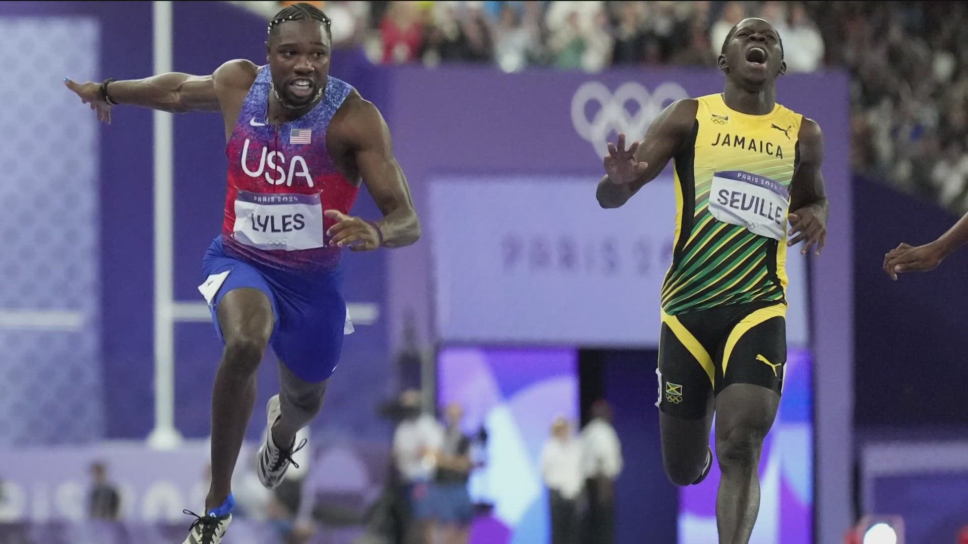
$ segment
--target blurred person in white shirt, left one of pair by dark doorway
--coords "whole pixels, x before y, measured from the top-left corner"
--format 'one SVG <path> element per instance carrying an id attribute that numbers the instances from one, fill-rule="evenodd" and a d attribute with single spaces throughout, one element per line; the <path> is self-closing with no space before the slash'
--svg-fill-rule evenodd
<path id="1" fill-rule="evenodd" d="M 541 475 L 548 487 L 552 544 L 576 544 L 579 536 L 578 498 L 585 483 L 582 442 L 571 432 L 568 420 L 559 417 L 552 437 L 541 451 Z"/>

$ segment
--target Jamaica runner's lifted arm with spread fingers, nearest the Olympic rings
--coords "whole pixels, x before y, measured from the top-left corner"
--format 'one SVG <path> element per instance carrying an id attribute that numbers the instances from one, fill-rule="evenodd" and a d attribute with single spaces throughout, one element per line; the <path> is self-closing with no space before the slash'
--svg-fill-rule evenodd
<path id="1" fill-rule="evenodd" d="M 609 142 L 603 161 L 605 177 L 595 192 L 601 207 L 618 208 L 665 169 L 692 131 L 698 104 L 695 99 L 670 104 L 652 121 L 646 137 L 633 141 L 628 149 L 625 135 L 619 135 L 618 145 Z"/>

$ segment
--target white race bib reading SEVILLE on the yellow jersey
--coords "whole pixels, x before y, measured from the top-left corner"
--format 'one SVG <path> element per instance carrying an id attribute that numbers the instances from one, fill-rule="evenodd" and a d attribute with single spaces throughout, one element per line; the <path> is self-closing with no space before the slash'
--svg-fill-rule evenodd
<path id="1" fill-rule="evenodd" d="M 741 170 L 712 174 L 710 213 L 723 223 L 782 240 L 790 194 L 768 177 Z"/>

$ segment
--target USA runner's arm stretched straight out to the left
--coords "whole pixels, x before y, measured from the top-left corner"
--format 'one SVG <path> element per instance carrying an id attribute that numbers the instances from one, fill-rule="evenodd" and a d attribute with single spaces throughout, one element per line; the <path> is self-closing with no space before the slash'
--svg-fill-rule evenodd
<path id="1" fill-rule="evenodd" d="M 236 82 L 241 85 L 247 74 L 251 75 L 249 83 L 252 83 L 256 70 L 252 62 L 236 59 L 223 64 L 210 76 L 171 72 L 143 79 L 110 81 L 105 89 L 102 89 L 102 83 L 91 81 L 76 83 L 64 79 L 64 84 L 80 97 L 81 102 L 97 112 L 99 121 L 110 123 L 111 107 L 122 104 L 171 113 L 220 111 L 216 86 L 231 86 Z"/>

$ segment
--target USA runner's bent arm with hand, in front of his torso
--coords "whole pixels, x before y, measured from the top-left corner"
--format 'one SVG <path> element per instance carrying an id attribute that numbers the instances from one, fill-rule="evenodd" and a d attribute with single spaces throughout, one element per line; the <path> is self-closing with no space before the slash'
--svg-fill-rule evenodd
<path id="1" fill-rule="evenodd" d="M 326 210 L 326 217 L 339 222 L 326 232 L 332 236 L 330 243 L 354 251 L 408 246 L 420 238 L 420 221 L 413 210 L 407 178 L 393 156 L 390 130 L 377 106 L 358 96 L 347 100 L 352 102 L 334 136 L 348 145 L 383 219 L 371 223 L 338 210 Z"/>

